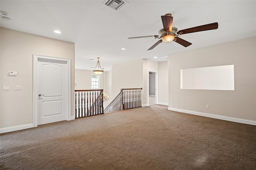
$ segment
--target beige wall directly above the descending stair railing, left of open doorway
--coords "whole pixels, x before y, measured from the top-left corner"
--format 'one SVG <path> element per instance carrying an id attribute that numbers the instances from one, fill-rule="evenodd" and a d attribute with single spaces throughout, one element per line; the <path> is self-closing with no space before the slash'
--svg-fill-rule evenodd
<path id="1" fill-rule="evenodd" d="M 112 98 L 121 89 L 142 87 L 142 59 L 112 65 Z"/>

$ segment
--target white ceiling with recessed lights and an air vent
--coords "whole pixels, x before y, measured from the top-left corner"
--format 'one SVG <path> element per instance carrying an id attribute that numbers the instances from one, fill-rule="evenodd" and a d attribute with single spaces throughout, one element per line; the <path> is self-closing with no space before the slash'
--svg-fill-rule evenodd
<path id="1" fill-rule="evenodd" d="M 127 2 L 116 11 L 104 5 L 104 0 L 1 0 L 0 10 L 8 12 L 11 21 L 1 17 L 0 26 L 75 43 L 76 69 L 92 70 L 96 61 L 89 59 L 100 57 L 105 71 L 125 61 L 141 58 L 165 61 L 168 54 L 256 36 L 255 0 Z M 158 39 L 127 39 L 158 35 L 163 28 L 161 16 L 168 13 L 174 17 L 173 26 L 178 30 L 213 22 L 218 22 L 219 27 L 182 35 L 180 38 L 192 43 L 189 47 L 163 42 L 147 51 Z M 54 30 L 62 33 L 56 34 Z"/>

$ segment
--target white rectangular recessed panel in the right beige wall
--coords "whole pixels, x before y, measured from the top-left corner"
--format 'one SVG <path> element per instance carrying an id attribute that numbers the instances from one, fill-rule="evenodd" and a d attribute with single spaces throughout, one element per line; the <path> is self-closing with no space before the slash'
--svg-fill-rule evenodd
<path id="1" fill-rule="evenodd" d="M 234 65 L 180 69 L 180 89 L 234 90 Z"/>

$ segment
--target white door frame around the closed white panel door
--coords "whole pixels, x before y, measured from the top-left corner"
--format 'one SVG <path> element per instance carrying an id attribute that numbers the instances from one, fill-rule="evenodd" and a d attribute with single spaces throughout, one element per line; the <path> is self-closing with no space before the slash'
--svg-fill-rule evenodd
<path id="1" fill-rule="evenodd" d="M 67 63 L 68 67 L 68 95 L 66 96 L 66 100 L 68 101 L 68 117 L 67 121 L 71 120 L 71 59 L 60 58 L 60 57 L 49 57 L 44 55 L 36 55 L 33 54 L 33 127 L 37 127 L 37 102 L 38 102 L 38 94 L 37 94 L 37 78 L 38 78 L 38 59 L 48 59 L 53 61 L 64 61 Z"/>

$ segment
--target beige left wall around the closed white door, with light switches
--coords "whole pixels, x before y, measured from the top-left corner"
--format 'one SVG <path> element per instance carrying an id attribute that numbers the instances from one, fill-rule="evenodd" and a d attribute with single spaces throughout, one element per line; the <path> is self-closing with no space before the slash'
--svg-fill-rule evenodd
<path id="1" fill-rule="evenodd" d="M 33 54 L 71 59 L 71 116 L 74 116 L 74 43 L 0 28 L 0 128 L 32 124 Z M 18 71 L 15 77 L 10 71 Z M 9 85 L 9 91 L 2 91 Z M 21 91 L 15 91 L 22 85 Z"/>

